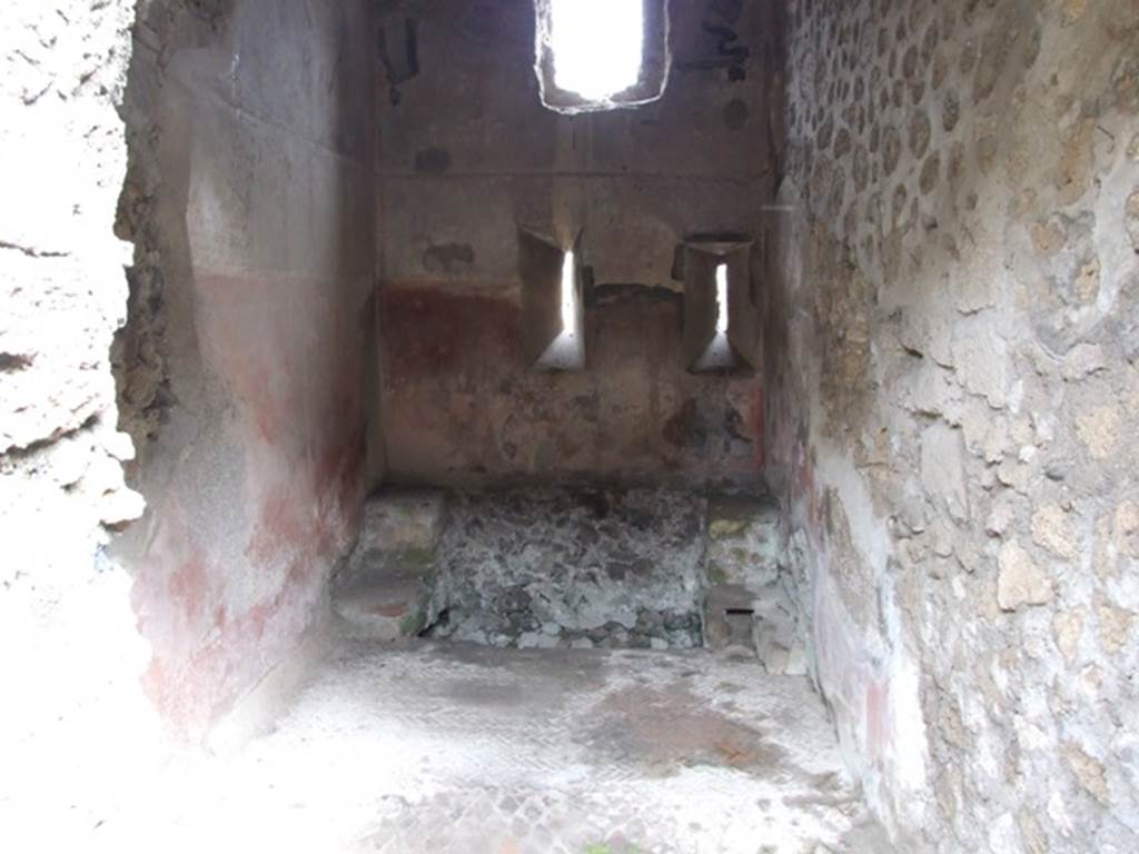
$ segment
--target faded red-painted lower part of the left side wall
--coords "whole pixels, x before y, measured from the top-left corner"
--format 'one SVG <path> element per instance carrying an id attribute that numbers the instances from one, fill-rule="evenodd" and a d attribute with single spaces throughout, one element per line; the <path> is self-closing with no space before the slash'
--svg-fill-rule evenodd
<path id="1" fill-rule="evenodd" d="M 191 737 L 295 644 L 363 499 L 361 318 L 336 282 L 200 274 L 212 394 L 151 502 L 134 606 L 146 687 Z M 196 484 L 208 483 L 206 490 Z"/>

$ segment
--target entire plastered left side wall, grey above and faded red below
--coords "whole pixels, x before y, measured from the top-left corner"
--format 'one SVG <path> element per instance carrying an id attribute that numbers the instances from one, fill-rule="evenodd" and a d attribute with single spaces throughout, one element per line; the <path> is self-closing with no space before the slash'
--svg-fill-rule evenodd
<path id="1" fill-rule="evenodd" d="M 117 348 L 147 689 L 196 736 L 296 646 L 363 494 L 366 2 L 139 3 Z"/>

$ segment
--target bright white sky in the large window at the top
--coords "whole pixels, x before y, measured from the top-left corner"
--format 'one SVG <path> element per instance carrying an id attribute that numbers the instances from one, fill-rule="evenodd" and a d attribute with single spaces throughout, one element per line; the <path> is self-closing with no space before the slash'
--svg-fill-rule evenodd
<path id="1" fill-rule="evenodd" d="M 601 100 L 640 80 L 645 0 L 551 0 L 554 81 Z"/>

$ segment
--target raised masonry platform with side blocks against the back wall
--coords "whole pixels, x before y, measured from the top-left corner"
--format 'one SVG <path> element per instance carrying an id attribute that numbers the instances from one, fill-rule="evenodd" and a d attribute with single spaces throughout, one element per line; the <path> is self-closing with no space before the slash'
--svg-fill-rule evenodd
<path id="1" fill-rule="evenodd" d="M 493 647 L 754 650 L 806 671 L 762 495 L 386 491 L 334 584 L 357 637 Z"/>

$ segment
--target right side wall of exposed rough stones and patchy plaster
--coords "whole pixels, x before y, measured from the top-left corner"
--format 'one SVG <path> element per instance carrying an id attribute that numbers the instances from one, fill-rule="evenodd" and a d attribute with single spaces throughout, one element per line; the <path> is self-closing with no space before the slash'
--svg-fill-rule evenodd
<path id="1" fill-rule="evenodd" d="M 1139 6 L 788 3 L 768 458 L 814 673 L 941 852 L 1139 845 Z"/>

